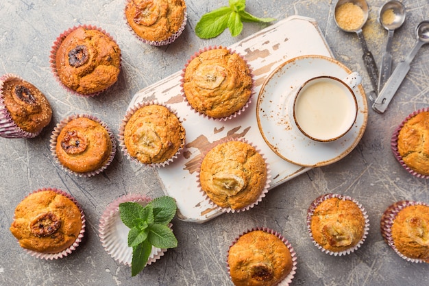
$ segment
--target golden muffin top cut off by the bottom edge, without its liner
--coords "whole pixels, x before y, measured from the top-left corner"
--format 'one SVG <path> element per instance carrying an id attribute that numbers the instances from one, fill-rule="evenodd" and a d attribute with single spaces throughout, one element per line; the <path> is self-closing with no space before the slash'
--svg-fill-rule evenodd
<path id="1" fill-rule="evenodd" d="M 264 230 L 253 230 L 239 237 L 228 252 L 228 265 L 236 286 L 277 285 L 293 267 L 289 248 Z"/>

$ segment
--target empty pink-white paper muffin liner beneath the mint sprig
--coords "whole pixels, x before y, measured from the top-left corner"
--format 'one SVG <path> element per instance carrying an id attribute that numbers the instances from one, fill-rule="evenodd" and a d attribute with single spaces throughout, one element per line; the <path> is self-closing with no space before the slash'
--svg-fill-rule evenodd
<path id="1" fill-rule="evenodd" d="M 127 237 L 130 228 L 127 228 L 121 221 L 119 213 L 119 204 L 122 202 L 138 202 L 145 206 L 151 201 L 151 198 L 145 195 L 128 194 L 114 200 L 106 207 L 99 222 L 99 238 L 104 250 L 110 257 L 121 264 L 131 266 L 132 248 L 128 247 Z M 169 224 L 171 228 L 172 224 Z M 146 265 L 154 263 L 164 255 L 167 249 L 156 248 L 152 246 L 151 254 Z"/>

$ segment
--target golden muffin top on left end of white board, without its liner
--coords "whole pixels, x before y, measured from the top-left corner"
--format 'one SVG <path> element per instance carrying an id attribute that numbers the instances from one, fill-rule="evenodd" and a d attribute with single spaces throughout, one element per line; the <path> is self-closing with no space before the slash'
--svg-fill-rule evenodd
<path id="1" fill-rule="evenodd" d="M 141 163 L 163 163 L 184 144 L 185 130 L 176 115 L 165 106 L 150 104 L 136 110 L 124 130 L 130 156 Z"/>

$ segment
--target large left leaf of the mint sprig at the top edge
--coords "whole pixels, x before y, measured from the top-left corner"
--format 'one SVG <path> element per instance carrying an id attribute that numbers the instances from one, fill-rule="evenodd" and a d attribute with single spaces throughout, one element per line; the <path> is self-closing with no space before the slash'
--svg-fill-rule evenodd
<path id="1" fill-rule="evenodd" d="M 199 38 L 215 38 L 228 27 L 231 9 L 222 7 L 204 14 L 195 26 L 195 34 Z"/>

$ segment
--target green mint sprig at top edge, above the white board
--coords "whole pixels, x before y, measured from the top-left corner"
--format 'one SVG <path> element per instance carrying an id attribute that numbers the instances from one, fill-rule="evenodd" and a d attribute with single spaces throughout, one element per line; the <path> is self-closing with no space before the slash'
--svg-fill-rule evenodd
<path id="1" fill-rule="evenodd" d="M 221 7 L 204 14 L 195 26 L 195 34 L 199 38 L 215 38 L 227 27 L 233 37 L 238 36 L 243 30 L 243 22 L 275 21 L 273 18 L 258 18 L 245 12 L 245 0 L 229 0 L 230 5 Z"/>

